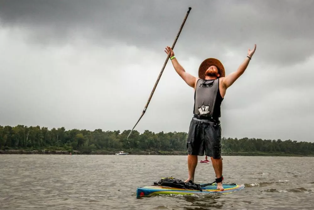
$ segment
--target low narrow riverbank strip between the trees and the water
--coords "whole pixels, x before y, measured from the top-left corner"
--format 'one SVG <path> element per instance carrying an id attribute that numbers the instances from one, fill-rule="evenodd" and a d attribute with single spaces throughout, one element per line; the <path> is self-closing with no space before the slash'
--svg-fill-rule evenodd
<path id="1" fill-rule="evenodd" d="M 185 151 L 125 151 L 129 155 L 187 155 Z M 115 155 L 112 151 L 80 152 L 72 151 L 72 155 Z M 69 151 L 50 150 L 0 150 L 0 155 L 69 155 Z M 312 157 L 314 155 L 288 154 L 288 153 L 266 153 L 266 152 L 223 152 L 222 156 L 290 156 L 290 157 Z"/>

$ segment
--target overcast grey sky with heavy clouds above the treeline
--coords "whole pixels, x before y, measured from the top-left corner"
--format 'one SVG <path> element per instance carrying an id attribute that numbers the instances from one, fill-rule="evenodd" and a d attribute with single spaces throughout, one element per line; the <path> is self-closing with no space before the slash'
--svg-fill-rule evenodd
<path id="1" fill-rule="evenodd" d="M 0 124 L 132 129 L 171 46 L 194 76 L 236 71 L 222 136 L 314 141 L 314 2 L 0 0 Z M 168 62 L 135 130 L 187 132 L 193 88 Z"/>

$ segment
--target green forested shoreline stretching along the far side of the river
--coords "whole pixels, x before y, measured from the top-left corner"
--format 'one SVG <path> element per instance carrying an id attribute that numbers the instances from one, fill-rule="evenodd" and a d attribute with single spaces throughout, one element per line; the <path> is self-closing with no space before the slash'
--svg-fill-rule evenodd
<path id="1" fill-rule="evenodd" d="M 49 130 L 40 126 L 0 125 L 0 154 L 115 154 L 186 155 L 186 132 L 102 129 Z M 10 151 L 10 152 L 9 152 Z M 314 156 L 314 143 L 280 139 L 222 138 L 223 155 Z"/>

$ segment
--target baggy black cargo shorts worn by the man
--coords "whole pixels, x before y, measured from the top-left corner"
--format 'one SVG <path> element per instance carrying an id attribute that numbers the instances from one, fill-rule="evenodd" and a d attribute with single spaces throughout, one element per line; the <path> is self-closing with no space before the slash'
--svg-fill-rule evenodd
<path id="1" fill-rule="evenodd" d="M 192 118 L 187 135 L 189 155 L 205 155 L 219 159 L 221 157 L 220 123 Z"/>

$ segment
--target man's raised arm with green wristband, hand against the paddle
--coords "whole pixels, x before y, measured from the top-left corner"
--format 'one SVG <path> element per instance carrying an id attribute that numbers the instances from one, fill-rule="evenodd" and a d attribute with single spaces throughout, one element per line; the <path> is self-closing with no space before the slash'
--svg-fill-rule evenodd
<path id="1" fill-rule="evenodd" d="M 179 64 L 179 62 L 176 60 L 175 54 L 172 51 L 171 47 L 167 46 L 165 48 L 165 52 L 167 55 L 170 53 L 170 59 L 172 62 L 172 65 L 176 72 L 178 73 L 179 76 L 190 86 L 190 87 L 195 87 L 195 82 L 196 82 L 196 77 L 192 76 L 191 74 L 187 73 L 184 68 Z"/>

